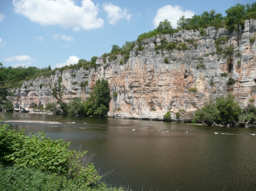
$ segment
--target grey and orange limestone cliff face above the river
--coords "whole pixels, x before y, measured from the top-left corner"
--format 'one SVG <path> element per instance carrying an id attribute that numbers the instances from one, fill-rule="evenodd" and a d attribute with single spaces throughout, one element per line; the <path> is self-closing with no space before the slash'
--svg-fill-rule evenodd
<path id="1" fill-rule="evenodd" d="M 119 118 L 161 120 L 167 111 L 174 111 L 171 115 L 176 119 L 175 112 L 181 109 L 193 112 L 207 103 L 210 97 L 227 93 L 232 93 L 242 107 L 249 103 L 250 98 L 256 100 L 256 95 L 251 95 L 251 89 L 256 85 L 256 45 L 253 41 L 256 21 L 245 21 L 244 30 L 229 32 L 225 28 L 216 30 L 209 27 L 205 32 L 206 35 L 200 35 L 199 31 L 182 30 L 173 36 L 144 40 L 141 42 L 144 50 L 137 51 L 138 45 L 135 45 L 125 64 L 119 64 L 123 55 L 118 55 L 114 61 L 107 59 L 106 63 L 99 57 L 96 68 L 68 69 L 62 74 L 56 71 L 50 78 L 24 81 L 22 87 L 16 89 L 15 110 L 32 111 L 35 104 L 45 106 L 53 102 L 50 86 L 61 75 L 66 86 L 66 102 L 75 97 L 86 99 L 97 79 L 107 79 L 111 94 L 117 93 L 110 101 L 108 115 Z M 234 46 L 234 51 L 226 57 L 214 53 L 216 39 L 220 37 L 228 38 L 220 47 Z M 163 41 L 186 43 L 187 50 L 155 50 L 155 46 L 160 46 Z M 192 42 L 196 42 L 197 47 Z M 164 63 L 165 58 L 169 63 Z M 235 81 L 227 86 L 230 78 Z M 85 81 L 88 85 L 84 89 L 75 84 Z M 197 92 L 191 88 L 196 88 Z M 180 119 L 189 119 L 189 116 L 181 112 Z"/>

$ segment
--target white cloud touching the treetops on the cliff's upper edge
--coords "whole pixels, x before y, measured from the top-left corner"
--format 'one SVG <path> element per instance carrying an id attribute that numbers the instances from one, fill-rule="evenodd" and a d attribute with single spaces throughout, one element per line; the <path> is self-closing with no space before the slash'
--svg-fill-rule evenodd
<path id="1" fill-rule="evenodd" d="M 176 21 L 180 19 L 180 17 L 184 15 L 185 18 L 190 18 L 195 15 L 195 13 L 191 10 L 182 10 L 182 7 L 175 5 L 174 7 L 171 5 L 166 5 L 157 10 L 157 14 L 153 20 L 155 27 L 159 25 L 161 21 L 164 19 L 168 19 L 173 25 L 174 28 L 177 27 Z"/>

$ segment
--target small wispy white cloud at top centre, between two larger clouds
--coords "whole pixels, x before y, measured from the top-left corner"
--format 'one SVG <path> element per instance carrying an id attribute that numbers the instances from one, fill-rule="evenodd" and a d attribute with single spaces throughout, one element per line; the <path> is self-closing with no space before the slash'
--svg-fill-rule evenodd
<path id="1" fill-rule="evenodd" d="M 129 22 L 130 17 L 132 16 L 131 14 L 128 14 L 128 9 L 122 10 L 119 6 L 112 5 L 111 3 L 104 3 L 102 7 L 108 14 L 109 24 L 116 24 L 116 22 L 124 18 Z"/>

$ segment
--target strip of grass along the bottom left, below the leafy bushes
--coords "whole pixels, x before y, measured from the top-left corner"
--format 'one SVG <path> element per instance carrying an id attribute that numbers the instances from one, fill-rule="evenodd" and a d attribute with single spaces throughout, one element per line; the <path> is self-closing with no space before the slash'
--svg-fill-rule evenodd
<path id="1" fill-rule="evenodd" d="M 1 191 L 128 191 L 123 188 L 107 188 L 105 184 L 91 188 L 78 184 L 64 176 L 47 174 L 34 168 L 5 167 L 0 164 Z"/>

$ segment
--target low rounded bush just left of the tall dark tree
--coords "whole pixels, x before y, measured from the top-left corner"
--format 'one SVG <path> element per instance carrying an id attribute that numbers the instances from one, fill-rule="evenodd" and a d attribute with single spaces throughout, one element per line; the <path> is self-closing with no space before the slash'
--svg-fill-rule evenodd
<path id="1" fill-rule="evenodd" d="M 76 97 L 72 102 L 68 103 L 68 115 L 84 115 L 85 101 L 81 97 Z"/>

